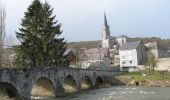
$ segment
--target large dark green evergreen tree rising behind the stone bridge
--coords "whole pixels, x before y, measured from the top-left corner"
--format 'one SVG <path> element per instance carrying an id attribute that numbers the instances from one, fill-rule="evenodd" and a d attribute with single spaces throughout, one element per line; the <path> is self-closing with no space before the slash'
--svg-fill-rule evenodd
<path id="1" fill-rule="evenodd" d="M 61 64 L 66 49 L 61 24 L 57 24 L 53 9 L 45 2 L 34 0 L 16 32 L 21 45 L 17 48 L 17 63 L 29 67 L 51 67 Z"/>

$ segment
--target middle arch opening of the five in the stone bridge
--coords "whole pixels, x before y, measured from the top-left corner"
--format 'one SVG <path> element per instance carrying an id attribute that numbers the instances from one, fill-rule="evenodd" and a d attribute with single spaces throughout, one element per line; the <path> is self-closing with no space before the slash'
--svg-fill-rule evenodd
<path id="1" fill-rule="evenodd" d="M 65 93 L 73 93 L 73 92 L 76 92 L 78 90 L 76 80 L 71 75 L 67 75 L 64 78 L 62 85 L 63 85 Z"/>

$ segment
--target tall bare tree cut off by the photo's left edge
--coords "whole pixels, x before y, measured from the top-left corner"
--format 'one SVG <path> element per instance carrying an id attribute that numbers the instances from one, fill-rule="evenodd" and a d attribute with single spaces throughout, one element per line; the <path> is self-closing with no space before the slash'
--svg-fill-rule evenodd
<path id="1" fill-rule="evenodd" d="M 3 45 L 5 38 L 5 19 L 6 19 L 6 11 L 3 6 L 2 0 L 0 0 L 0 67 L 3 66 Z"/>

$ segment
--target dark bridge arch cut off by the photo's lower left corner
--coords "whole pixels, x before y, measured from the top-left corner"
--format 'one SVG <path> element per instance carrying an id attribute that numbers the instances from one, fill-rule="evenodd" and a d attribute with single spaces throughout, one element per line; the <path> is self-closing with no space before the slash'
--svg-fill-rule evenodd
<path id="1" fill-rule="evenodd" d="M 3 100 L 20 99 L 20 95 L 16 87 L 12 83 L 0 82 L 0 97 Z"/>

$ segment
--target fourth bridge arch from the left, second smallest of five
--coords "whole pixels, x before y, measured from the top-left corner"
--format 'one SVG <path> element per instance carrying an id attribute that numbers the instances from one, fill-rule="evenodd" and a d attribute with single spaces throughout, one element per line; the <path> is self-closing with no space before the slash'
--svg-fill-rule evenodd
<path id="1" fill-rule="evenodd" d="M 84 76 L 82 77 L 80 81 L 80 89 L 81 90 L 86 90 L 86 89 L 91 89 L 92 88 L 92 80 L 89 76 Z"/>

